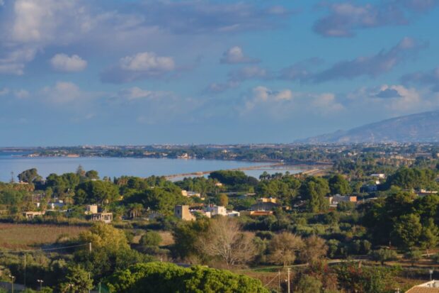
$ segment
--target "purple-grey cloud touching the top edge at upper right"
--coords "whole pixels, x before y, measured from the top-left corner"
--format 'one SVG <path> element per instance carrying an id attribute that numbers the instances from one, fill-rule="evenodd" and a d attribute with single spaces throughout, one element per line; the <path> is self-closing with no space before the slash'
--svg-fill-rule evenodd
<path id="1" fill-rule="evenodd" d="M 405 25 L 419 13 L 439 4 L 435 0 L 380 1 L 353 4 L 353 1 L 322 4 L 329 13 L 314 23 L 314 31 L 326 37 L 352 37 L 355 31 L 379 26 Z"/>

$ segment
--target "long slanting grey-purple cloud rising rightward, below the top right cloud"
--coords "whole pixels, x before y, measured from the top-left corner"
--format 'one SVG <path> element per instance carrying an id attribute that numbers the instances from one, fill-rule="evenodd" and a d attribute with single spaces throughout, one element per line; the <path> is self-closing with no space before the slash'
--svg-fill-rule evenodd
<path id="1" fill-rule="evenodd" d="M 327 70 L 313 74 L 310 79 L 312 82 L 327 82 L 333 79 L 353 79 L 362 75 L 377 77 L 414 57 L 425 47 L 425 43 L 419 43 L 413 38 L 404 38 L 388 51 L 382 50 L 376 55 L 338 62 Z"/>

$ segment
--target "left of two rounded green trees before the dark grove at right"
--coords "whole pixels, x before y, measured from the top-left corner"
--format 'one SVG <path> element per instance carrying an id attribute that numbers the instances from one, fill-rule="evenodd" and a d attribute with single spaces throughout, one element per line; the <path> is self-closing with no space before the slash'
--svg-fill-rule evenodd
<path id="1" fill-rule="evenodd" d="M 421 238 L 422 225 L 418 215 L 406 214 L 400 216 L 394 224 L 394 237 L 404 248 L 414 247 Z"/>

